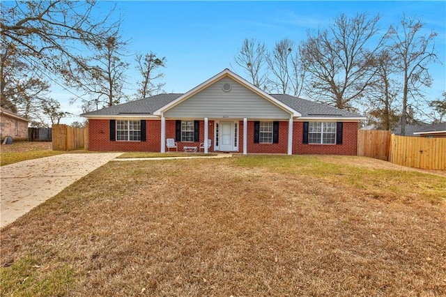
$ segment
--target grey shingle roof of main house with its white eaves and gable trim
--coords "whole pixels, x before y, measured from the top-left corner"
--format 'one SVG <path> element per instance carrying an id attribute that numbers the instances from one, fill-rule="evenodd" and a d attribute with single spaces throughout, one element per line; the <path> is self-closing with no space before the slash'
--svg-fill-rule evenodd
<path id="1" fill-rule="evenodd" d="M 167 112 L 169 109 L 180 104 L 180 102 L 191 98 L 195 94 L 203 91 L 203 89 L 206 89 L 208 86 L 214 84 L 215 82 L 218 82 L 224 77 L 230 77 L 239 84 L 245 86 L 247 89 L 251 90 L 262 98 L 265 98 L 280 109 L 289 112 L 289 114 L 297 117 L 298 119 L 320 119 L 330 121 L 337 119 L 360 121 L 362 119 L 365 119 L 359 114 L 354 114 L 343 109 L 337 109 L 309 100 L 289 95 L 265 93 L 261 89 L 257 88 L 253 84 L 250 84 L 245 79 L 232 73 L 228 69 L 223 70 L 221 73 L 218 73 L 217 75 L 206 80 L 206 82 L 199 84 L 199 86 L 184 94 L 159 94 L 148 98 L 123 103 L 121 105 L 107 107 L 95 112 L 87 112 L 85 114 L 82 114 L 82 116 L 90 119 L 107 119 L 110 117 L 138 117 L 140 119 L 159 118 L 162 113 Z"/>

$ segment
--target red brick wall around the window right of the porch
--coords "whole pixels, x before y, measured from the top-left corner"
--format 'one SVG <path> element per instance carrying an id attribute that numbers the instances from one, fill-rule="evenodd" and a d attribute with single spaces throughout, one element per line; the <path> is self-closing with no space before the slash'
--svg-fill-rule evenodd
<path id="1" fill-rule="evenodd" d="M 356 155 L 357 146 L 356 122 L 344 122 L 342 144 L 302 144 L 303 122 L 293 123 L 293 155 Z"/>

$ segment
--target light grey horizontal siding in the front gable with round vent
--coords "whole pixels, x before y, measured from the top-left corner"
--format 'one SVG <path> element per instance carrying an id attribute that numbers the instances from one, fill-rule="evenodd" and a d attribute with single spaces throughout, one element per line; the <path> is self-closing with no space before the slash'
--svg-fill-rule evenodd
<path id="1" fill-rule="evenodd" d="M 229 92 L 222 90 L 223 84 L 231 84 Z M 289 119 L 290 114 L 268 100 L 253 93 L 229 77 L 218 82 L 196 95 L 181 102 L 167 112 L 166 118 L 228 118 L 228 119 Z"/>

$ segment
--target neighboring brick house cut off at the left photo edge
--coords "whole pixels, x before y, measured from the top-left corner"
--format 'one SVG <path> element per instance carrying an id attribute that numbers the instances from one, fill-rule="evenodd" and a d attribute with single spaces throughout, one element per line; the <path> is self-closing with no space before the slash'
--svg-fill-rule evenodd
<path id="1" fill-rule="evenodd" d="M 10 136 L 14 140 L 28 140 L 28 123 L 28 119 L 0 107 L 0 139 Z"/>

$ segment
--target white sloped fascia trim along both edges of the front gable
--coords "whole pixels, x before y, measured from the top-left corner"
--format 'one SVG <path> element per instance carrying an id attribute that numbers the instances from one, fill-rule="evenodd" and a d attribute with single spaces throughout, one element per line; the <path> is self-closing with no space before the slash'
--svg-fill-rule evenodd
<path id="1" fill-rule="evenodd" d="M 180 102 L 183 102 L 183 101 L 187 100 L 188 98 L 194 96 L 196 93 L 199 93 L 199 91 L 206 89 L 206 87 L 217 82 L 218 80 L 222 79 L 223 77 L 230 77 L 231 79 L 235 80 L 239 84 L 242 84 L 247 89 L 251 90 L 252 92 L 256 93 L 257 95 L 270 101 L 272 104 L 276 105 L 277 107 L 286 110 L 286 112 L 289 112 L 290 114 L 292 114 L 292 116 L 301 116 L 302 115 L 299 112 L 292 109 L 291 107 L 289 107 L 288 105 L 285 105 L 284 103 L 280 102 L 276 98 L 270 96 L 268 93 L 257 88 L 253 84 L 247 82 L 245 79 L 236 75 L 235 73 L 233 73 L 231 70 L 229 70 L 227 68 L 225 70 L 223 70 L 221 73 L 218 73 L 217 75 L 214 75 L 213 77 L 210 77 L 210 79 L 206 80 L 206 82 L 199 84 L 194 89 L 192 89 L 192 90 L 188 91 L 187 93 L 184 93 L 182 96 L 176 98 L 176 100 L 170 102 L 167 105 L 164 105 L 160 109 L 157 109 L 155 112 L 153 112 L 153 114 L 160 116 L 163 112 L 167 112 L 167 110 L 180 104 Z"/>

